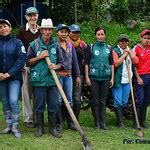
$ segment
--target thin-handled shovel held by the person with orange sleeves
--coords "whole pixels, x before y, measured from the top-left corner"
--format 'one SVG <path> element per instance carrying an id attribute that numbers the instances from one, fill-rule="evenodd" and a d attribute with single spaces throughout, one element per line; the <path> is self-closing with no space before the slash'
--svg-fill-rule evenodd
<path id="1" fill-rule="evenodd" d="M 136 106 L 135 106 L 135 98 L 134 98 L 134 93 L 133 93 L 133 85 L 132 85 L 132 80 L 131 80 L 131 72 L 130 72 L 129 63 L 128 63 L 127 58 L 125 59 L 125 61 L 126 61 L 126 66 L 127 66 L 127 72 L 128 72 L 128 78 L 129 78 L 129 84 L 130 84 L 130 90 L 131 90 L 131 98 L 132 98 L 133 110 L 134 110 L 134 115 L 135 115 L 135 121 L 136 121 L 136 125 L 137 125 L 135 135 L 142 138 L 142 137 L 144 137 L 144 132 L 140 127 L 139 118 L 137 115 L 137 110 L 136 110 Z"/>

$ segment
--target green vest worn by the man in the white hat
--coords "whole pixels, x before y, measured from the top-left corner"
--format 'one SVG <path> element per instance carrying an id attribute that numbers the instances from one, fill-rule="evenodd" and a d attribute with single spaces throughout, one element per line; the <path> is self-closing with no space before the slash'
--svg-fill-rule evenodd
<path id="1" fill-rule="evenodd" d="M 42 51 L 48 50 L 49 57 L 52 63 L 57 63 L 57 42 L 52 39 L 51 42 L 46 45 L 44 44 L 41 37 L 30 43 L 30 47 L 34 50 L 36 56 L 38 56 Z M 38 44 L 37 44 L 38 43 Z M 40 60 L 37 64 L 31 67 L 31 81 L 33 86 L 53 86 L 56 85 L 52 77 L 50 69 L 46 63 L 46 60 Z"/>

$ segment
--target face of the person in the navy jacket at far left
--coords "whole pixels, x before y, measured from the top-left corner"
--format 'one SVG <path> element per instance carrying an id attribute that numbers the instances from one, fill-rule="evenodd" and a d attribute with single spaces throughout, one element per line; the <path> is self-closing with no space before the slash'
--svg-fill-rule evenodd
<path id="1" fill-rule="evenodd" d="M 9 27 L 6 23 L 0 24 L 0 35 L 7 36 L 11 33 L 12 28 Z"/>

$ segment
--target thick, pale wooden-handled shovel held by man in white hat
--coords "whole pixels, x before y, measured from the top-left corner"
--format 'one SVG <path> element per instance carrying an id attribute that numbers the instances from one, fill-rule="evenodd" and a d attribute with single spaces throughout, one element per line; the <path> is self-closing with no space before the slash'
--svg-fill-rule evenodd
<path id="1" fill-rule="evenodd" d="M 48 64 L 48 66 L 51 64 L 51 60 L 50 60 L 49 57 L 46 57 L 46 62 L 47 62 L 47 64 Z M 69 114 L 70 114 L 70 116 L 71 116 L 71 118 L 72 118 L 72 120 L 73 120 L 73 122 L 74 122 L 74 124 L 75 124 L 75 126 L 76 126 L 76 128 L 77 128 L 77 130 L 78 130 L 79 133 L 80 133 L 80 136 L 81 136 L 81 138 L 82 138 L 82 143 L 83 143 L 83 149 L 84 149 L 84 150 L 92 150 L 92 145 L 90 144 L 90 142 L 89 142 L 87 136 L 85 135 L 85 133 L 84 133 L 83 130 L 81 129 L 81 127 L 80 127 L 80 125 L 79 125 L 79 123 L 78 123 L 78 121 L 77 121 L 77 119 L 76 119 L 76 117 L 75 117 L 75 115 L 74 115 L 74 113 L 73 113 L 71 107 L 70 107 L 70 104 L 69 104 L 69 102 L 68 102 L 68 100 L 67 100 L 67 97 L 66 97 L 66 95 L 65 95 L 65 93 L 64 93 L 64 91 L 63 91 L 63 89 L 62 89 L 62 86 L 61 86 L 61 84 L 60 84 L 60 81 L 59 81 L 59 79 L 58 79 L 58 76 L 57 76 L 55 70 L 50 69 L 50 71 L 51 71 L 52 76 L 53 76 L 53 78 L 54 78 L 54 80 L 55 80 L 55 82 L 56 82 L 57 88 L 58 88 L 58 90 L 59 90 L 59 92 L 60 92 L 60 94 L 61 94 L 61 96 L 62 96 L 62 98 L 63 98 L 63 100 L 64 100 L 64 103 L 65 103 L 65 105 L 66 105 L 66 108 L 67 108 L 67 110 L 68 110 L 68 112 L 69 112 Z"/>

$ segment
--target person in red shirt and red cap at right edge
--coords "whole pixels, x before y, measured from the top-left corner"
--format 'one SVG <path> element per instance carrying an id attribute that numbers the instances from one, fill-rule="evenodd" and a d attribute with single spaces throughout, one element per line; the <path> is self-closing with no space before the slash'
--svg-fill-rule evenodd
<path id="1" fill-rule="evenodd" d="M 147 107 L 150 104 L 150 30 L 140 33 L 140 43 L 133 48 L 139 63 L 135 68 L 135 92 L 137 96 L 136 107 L 140 126 L 147 128 L 145 123 Z"/>

